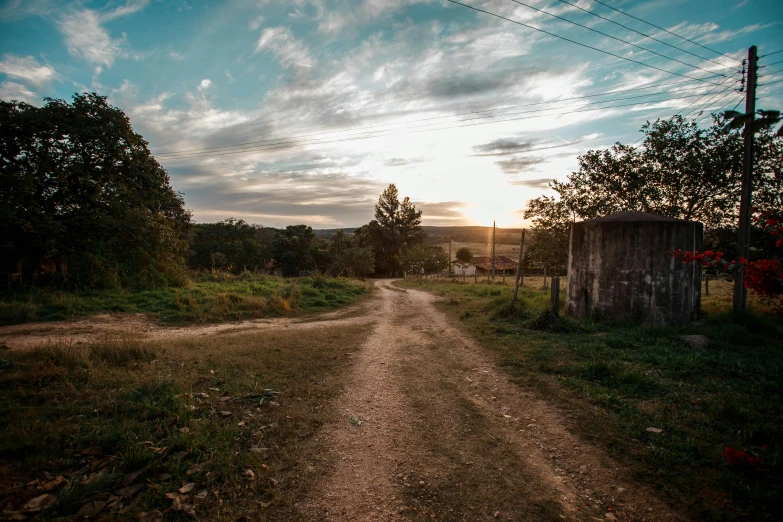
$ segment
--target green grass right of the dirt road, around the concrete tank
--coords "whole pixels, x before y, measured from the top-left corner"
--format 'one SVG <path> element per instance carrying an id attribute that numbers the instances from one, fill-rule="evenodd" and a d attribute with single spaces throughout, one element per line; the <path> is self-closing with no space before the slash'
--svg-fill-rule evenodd
<path id="1" fill-rule="evenodd" d="M 636 477 L 698 520 L 775 518 L 783 498 L 783 328 L 748 314 L 730 320 L 721 292 L 704 321 L 681 327 L 605 325 L 555 317 L 548 292 L 415 280 L 441 308 L 498 354 L 523 386 L 569 413 L 570 428 L 606 448 Z M 711 288 L 712 291 L 712 288 Z M 708 348 L 679 336 L 703 334 Z M 647 431 L 648 427 L 663 433 Z M 759 458 L 731 470 L 726 447 Z"/>

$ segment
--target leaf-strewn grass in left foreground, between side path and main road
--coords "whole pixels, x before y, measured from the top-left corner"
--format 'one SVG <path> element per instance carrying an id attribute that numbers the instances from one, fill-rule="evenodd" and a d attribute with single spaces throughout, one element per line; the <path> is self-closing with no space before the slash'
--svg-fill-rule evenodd
<path id="1" fill-rule="evenodd" d="M 294 499 L 329 465 L 313 435 L 368 332 L 0 353 L 3 519 L 301 518 Z"/>

